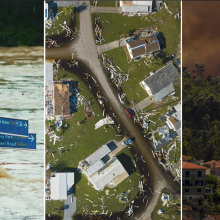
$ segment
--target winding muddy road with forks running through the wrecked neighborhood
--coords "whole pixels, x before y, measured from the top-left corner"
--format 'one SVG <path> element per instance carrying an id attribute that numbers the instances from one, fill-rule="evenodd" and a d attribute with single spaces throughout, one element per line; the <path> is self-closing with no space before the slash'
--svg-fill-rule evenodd
<path id="1" fill-rule="evenodd" d="M 90 3 L 82 2 L 79 11 L 80 29 L 76 39 L 62 48 L 47 48 L 46 59 L 71 59 L 73 54 L 74 59 L 84 63 L 92 71 L 103 95 L 108 99 L 109 105 L 128 131 L 129 136 L 135 138 L 135 145 L 143 156 L 148 167 L 147 172 L 149 172 L 151 177 L 150 185 L 154 192 L 150 201 L 148 201 L 146 208 L 142 213 L 138 213 L 138 219 L 149 220 L 151 219 L 152 211 L 159 199 L 160 191 L 163 188 L 167 188 L 170 193 L 180 197 L 180 184 L 174 182 L 171 173 L 166 172 L 164 168 L 158 164 L 158 160 L 153 157 L 151 146 L 144 138 L 140 127 L 127 116 L 125 113 L 125 107 L 120 103 L 117 94 L 108 82 L 101 62 L 98 59 L 97 46 L 93 36 Z"/>

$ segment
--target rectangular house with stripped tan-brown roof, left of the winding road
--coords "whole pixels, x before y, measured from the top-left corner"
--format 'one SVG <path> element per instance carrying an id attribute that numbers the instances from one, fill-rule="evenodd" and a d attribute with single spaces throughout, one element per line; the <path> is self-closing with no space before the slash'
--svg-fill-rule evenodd
<path id="1" fill-rule="evenodd" d="M 54 111 L 55 115 L 69 115 L 69 85 L 54 83 Z"/>

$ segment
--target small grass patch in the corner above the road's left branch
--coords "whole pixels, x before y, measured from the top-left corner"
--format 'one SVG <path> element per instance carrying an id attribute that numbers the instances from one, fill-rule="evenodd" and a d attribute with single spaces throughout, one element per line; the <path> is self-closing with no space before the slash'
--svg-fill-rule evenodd
<path id="1" fill-rule="evenodd" d="M 63 7 L 57 7 L 57 14 L 63 11 Z M 78 14 L 78 13 L 77 13 Z M 55 36 L 62 33 L 65 33 L 66 31 L 63 30 L 63 28 L 60 26 L 64 26 L 64 21 L 66 21 L 66 25 L 70 25 L 72 19 L 72 15 L 65 15 L 64 12 L 58 15 L 58 19 L 55 18 L 55 22 L 52 24 L 52 27 L 50 29 L 45 29 L 45 34 L 47 34 L 47 37 Z"/>

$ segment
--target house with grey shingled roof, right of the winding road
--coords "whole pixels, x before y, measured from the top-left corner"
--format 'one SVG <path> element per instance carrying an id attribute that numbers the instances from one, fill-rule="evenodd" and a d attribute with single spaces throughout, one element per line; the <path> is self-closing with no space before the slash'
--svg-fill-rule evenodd
<path id="1" fill-rule="evenodd" d="M 153 95 L 156 102 L 174 92 L 173 83 L 180 77 L 177 68 L 169 63 L 153 75 L 140 82 L 149 96 Z"/>

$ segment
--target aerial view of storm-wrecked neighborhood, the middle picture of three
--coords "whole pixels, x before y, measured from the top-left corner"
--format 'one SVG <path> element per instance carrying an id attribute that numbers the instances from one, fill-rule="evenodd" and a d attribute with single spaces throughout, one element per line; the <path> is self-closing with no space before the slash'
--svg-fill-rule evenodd
<path id="1" fill-rule="evenodd" d="M 181 2 L 45 1 L 45 219 L 181 219 Z"/>

